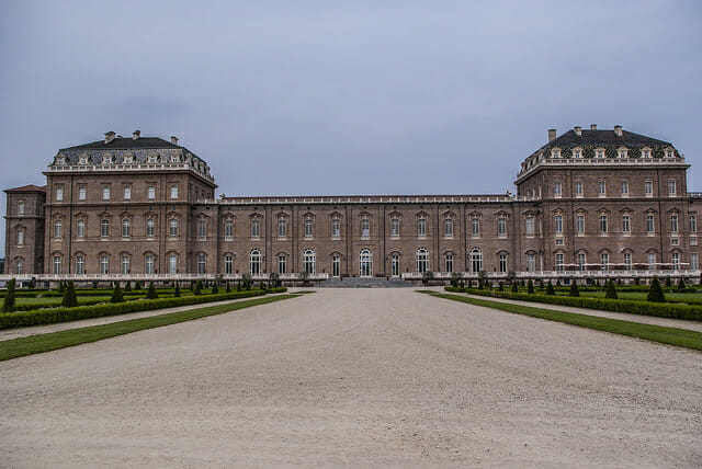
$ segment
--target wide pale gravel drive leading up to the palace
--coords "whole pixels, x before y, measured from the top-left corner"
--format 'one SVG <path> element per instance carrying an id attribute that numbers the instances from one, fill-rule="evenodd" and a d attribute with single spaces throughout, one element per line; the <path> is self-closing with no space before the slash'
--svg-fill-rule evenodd
<path id="1" fill-rule="evenodd" d="M 324 289 L 0 363 L 0 415 L 13 467 L 699 467 L 702 354 Z"/>

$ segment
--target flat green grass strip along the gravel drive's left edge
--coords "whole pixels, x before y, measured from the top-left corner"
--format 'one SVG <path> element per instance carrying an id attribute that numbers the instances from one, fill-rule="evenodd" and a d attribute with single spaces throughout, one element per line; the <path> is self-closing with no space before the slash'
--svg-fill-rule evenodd
<path id="1" fill-rule="evenodd" d="M 113 322 L 110 324 L 90 325 L 87 328 L 70 329 L 67 331 L 49 332 L 47 334 L 30 335 L 27 338 L 12 339 L 0 342 L 0 362 L 36 353 L 50 352 L 58 348 L 80 345 L 88 342 L 97 342 L 117 335 L 143 331 L 145 329 L 160 328 L 179 322 L 191 321 L 193 319 L 205 318 L 207 316 L 222 314 L 251 306 L 265 305 L 281 301 L 287 298 L 295 298 L 297 295 L 279 295 L 261 297 L 244 301 L 230 302 L 227 305 L 211 306 L 205 308 L 189 309 L 185 311 L 171 312 L 148 318 L 129 319 L 127 321 Z"/>

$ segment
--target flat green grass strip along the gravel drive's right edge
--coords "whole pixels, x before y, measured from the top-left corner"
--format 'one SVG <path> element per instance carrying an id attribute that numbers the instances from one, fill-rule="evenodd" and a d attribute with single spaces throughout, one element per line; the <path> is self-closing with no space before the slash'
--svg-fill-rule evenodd
<path id="1" fill-rule="evenodd" d="M 490 301 L 458 295 L 440 294 L 431 290 L 419 290 L 419 293 L 427 293 L 439 298 L 463 301 L 475 306 L 495 308 L 516 314 L 531 316 L 532 318 L 541 318 L 547 321 L 563 322 L 581 328 L 595 329 L 597 331 L 605 331 L 613 334 L 629 335 L 630 338 L 638 338 L 661 344 L 702 351 L 702 333 L 688 329 L 643 324 L 641 322 L 622 321 L 620 319 L 600 318 L 597 316 Z"/>

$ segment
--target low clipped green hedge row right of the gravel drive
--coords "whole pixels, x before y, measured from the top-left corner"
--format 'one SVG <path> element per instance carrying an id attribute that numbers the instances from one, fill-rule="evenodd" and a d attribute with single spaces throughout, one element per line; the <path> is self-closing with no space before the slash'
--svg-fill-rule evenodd
<path id="1" fill-rule="evenodd" d="M 547 305 L 573 306 L 576 308 L 600 309 L 603 311 L 626 312 L 630 314 L 657 316 L 660 318 L 689 319 L 702 321 L 702 307 L 666 302 L 648 302 L 622 299 L 604 299 L 590 297 L 568 297 L 552 295 L 529 295 L 522 293 L 486 290 L 476 288 L 446 287 L 448 291 L 465 291 L 471 295 L 494 298 L 517 299 L 521 301 L 543 302 Z"/>

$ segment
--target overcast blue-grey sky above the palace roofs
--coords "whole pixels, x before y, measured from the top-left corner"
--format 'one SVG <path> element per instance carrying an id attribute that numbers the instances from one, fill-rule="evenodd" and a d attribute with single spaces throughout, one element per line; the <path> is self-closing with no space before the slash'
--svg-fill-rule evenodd
<path id="1" fill-rule="evenodd" d="M 702 191 L 701 5 L 1 1 L 0 186 L 140 129 L 227 195 L 505 193 L 596 123 L 671 141 Z"/>

